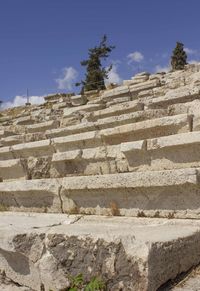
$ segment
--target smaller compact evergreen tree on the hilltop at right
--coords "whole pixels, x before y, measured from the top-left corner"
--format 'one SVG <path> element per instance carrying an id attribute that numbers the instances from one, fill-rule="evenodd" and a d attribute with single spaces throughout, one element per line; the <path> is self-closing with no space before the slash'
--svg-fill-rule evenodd
<path id="1" fill-rule="evenodd" d="M 182 70 L 185 65 L 187 65 L 187 54 L 184 51 L 184 44 L 177 42 L 171 57 L 172 70 Z"/>

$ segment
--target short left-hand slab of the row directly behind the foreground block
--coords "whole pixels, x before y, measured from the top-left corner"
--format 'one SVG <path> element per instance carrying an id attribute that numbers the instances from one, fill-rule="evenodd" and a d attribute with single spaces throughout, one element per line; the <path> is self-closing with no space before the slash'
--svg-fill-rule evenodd
<path id="1" fill-rule="evenodd" d="M 17 180 L 0 183 L 0 209 L 12 211 L 62 212 L 56 179 Z"/>

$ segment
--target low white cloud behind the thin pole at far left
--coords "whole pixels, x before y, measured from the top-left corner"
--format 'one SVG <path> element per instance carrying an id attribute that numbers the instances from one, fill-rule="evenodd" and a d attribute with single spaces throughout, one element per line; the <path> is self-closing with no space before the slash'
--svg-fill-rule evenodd
<path id="1" fill-rule="evenodd" d="M 17 106 L 23 106 L 27 102 L 27 97 L 25 96 L 15 96 L 15 98 L 12 101 L 3 102 L 1 108 L 11 108 L 11 107 L 17 107 Z M 44 102 L 43 96 L 30 96 L 29 102 L 31 104 L 41 104 Z"/>

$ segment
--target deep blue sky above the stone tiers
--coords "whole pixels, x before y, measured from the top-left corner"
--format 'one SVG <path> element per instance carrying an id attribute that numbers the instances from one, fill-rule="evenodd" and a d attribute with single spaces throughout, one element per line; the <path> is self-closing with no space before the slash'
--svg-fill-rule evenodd
<path id="1" fill-rule="evenodd" d="M 177 40 L 198 61 L 199 11 L 199 0 L 0 0 L 0 99 L 74 91 L 105 33 L 111 81 L 166 68 Z"/>

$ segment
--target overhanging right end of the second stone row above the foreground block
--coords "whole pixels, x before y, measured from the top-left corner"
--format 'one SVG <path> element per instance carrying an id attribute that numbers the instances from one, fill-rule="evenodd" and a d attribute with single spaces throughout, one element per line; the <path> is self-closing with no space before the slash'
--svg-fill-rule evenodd
<path id="1" fill-rule="evenodd" d="M 200 132 L 121 144 L 128 171 L 200 167 Z"/>

